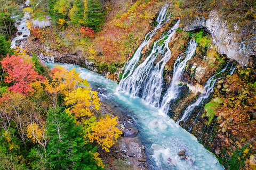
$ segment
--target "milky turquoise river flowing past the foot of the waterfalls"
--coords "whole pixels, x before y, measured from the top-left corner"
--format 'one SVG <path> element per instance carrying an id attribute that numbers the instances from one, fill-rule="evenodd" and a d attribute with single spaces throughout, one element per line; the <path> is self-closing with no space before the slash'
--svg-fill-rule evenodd
<path id="1" fill-rule="evenodd" d="M 53 66 L 54 63 L 49 65 Z M 138 135 L 146 146 L 148 161 L 153 162 L 151 169 L 224 169 L 215 156 L 198 143 L 193 135 L 182 129 L 169 116 L 161 114 L 159 108 L 147 104 L 139 97 L 130 97 L 117 91 L 117 84 L 101 75 L 71 64 L 60 65 L 81 73 L 81 77 L 89 81 L 92 89 L 99 91 L 102 103 L 111 103 L 119 112 L 134 118 L 140 130 Z M 187 150 L 190 161 L 179 159 L 177 152 L 182 149 Z M 169 165 L 169 157 L 177 166 Z"/>

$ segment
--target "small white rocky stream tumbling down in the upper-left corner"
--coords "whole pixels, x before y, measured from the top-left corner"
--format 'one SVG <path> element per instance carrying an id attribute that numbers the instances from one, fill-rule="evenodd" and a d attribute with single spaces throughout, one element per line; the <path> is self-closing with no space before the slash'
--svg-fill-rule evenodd
<path id="1" fill-rule="evenodd" d="M 26 6 L 29 4 L 29 1 L 30 0 L 27 0 L 25 2 Z M 21 6 L 21 8 L 22 7 L 23 7 L 23 5 Z M 17 18 L 17 16 L 14 16 L 13 18 L 15 19 L 15 18 Z M 28 21 L 28 18 L 30 18 L 29 13 L 25 12 L 23 18 L 16 20 L 15 27 L 18 29 L 18 31 L 17 31 L 15 37 L 11 41 L 11 48 L 15 48 L 15 46 L 16 46 L 15 45 L 16 44 L 15 41 L 28 38 L 28 36 L 30 35 L 30 30 L 27 27 L 27 23 L 26 23 L 26 21 Z M 19 22 L 20 22 L 20 24 L 18 24 Z M 22 34 L 18 35 L 18 32 L 22 32 Z M 27 35 L 27 37 L 23 37 L 23 35 Z M 22 46 L 22 43 L 23 42 L 21 42 L 21 46 Z"/>

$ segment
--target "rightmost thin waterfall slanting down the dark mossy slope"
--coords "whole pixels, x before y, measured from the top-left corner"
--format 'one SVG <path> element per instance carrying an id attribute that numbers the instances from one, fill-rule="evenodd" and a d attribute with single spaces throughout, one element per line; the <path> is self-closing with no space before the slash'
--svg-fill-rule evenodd
<path id="1" fill-rule="evenodd" d="M 180 120 L 177 121 L 177 124 L 179 124 L 181 121 L 186 121 L 186 120 L 188 119 L 188 117 L 190 116 L 191 112 L 194 110 L 194 108 L 195 108 L 196 106 L 199 106 L 200 104 L 202 104 L 202 103 L 204 102 L 204 100 L 207 99 L 207 98 L 211 95 L 211 93 L 212 93 L 212 91 L 213 91 L 213 89 L 214 89 L 214 84 L 215 84 L 215 82 L 220 79 L 220 78 L 216 79 L 216 77 L 217 77 L 218 75 L 220 75 L 221 73 L 225 72 L 226 69 L 227 69 L 227 67 L 228 67 L 228 65 L 229 65 L 229 63 L 228 63 L 228 64 L 226 65 L 226 67 L 225 67 L 224 69 L 222 69 L 219 73 L 213 75 L 210 79 L 208 79 L 208 80 L 206 81 L 205 86 L 204 86 L 204 88 L 206 89 L 206 92 L 205 92 L 204 94 L 200 95 L 200 96 L 198 97 L 198 99 L 195 101 L 195 103 L 190 104 L 190 105 L 186 108 L 186 110 L 185 110 L 185 112 L 183 113 L 183 115 L 182 115 L 182 117 L 180 118 Z"/>

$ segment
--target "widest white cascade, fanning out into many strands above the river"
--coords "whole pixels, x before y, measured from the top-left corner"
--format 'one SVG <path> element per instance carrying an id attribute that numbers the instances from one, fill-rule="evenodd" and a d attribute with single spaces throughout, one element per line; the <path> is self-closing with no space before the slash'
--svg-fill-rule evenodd
<path id="1" fill-rule="evenodd" d="M 122 83 L 122 89 L 130 92 L 132 96 L 140 96 L 149 104 L 159 106 L 163 86 L 163 70 L 171 55 L 169 43 L 178 27 L 179 21 L 165 36 L 154 43 L 146 60 Z M 163 56 L 163 58 L 154 66 L 154 62 L 159 56 Z"/>

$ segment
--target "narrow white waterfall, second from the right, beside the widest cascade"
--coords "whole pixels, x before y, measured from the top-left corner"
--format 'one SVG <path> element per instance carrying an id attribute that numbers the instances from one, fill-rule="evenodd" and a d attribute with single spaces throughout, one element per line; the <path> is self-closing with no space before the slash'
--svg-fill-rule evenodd
<path id="1" fill-rule="evenodd" d="M 187 61 L 189 61 L 191 59 L 191 57 L 196 52 L 196 46 L 197 46 L 196 41 L 190 40 L 187 51 L 185 53 L 179 55 L 179 57 L 177 58 L 177 60 L 174 63 L 172 81 L 171 81 L 171 84 L 170 84 L 168 90 L 165 92 L 165 95 L 162 100 L 161 111 L 163 113 L 168 112 L 170 101 L 172 99 L 177 98 L 177 96 L 179 94 L 178 83 L 180 82 L 180 80 L 182 78 Z M 183 61 L 181 61 L 181 58 L 184 55 L 186 55 L 186 58 Z"/>

